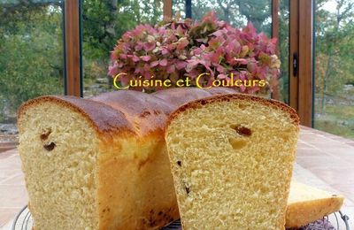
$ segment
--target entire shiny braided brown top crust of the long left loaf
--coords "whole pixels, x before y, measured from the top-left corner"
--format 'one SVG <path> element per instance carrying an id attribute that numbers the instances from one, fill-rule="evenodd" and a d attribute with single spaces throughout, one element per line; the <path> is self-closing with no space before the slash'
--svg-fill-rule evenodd
<path id="1" fill-rule="evenodd" d="M 119 90 L 89 99 L 75 96 L 40 96 L 19 107 L 18 119 L 29 106 L 50 101 L 78 111 L 97 132 L 128 132 L 146 135 L 163 135 L 170 113 L 181 104 L 212 95 L 235 93 L 232 88 L 171 88 L 148 95 L 146 93 Z"/>

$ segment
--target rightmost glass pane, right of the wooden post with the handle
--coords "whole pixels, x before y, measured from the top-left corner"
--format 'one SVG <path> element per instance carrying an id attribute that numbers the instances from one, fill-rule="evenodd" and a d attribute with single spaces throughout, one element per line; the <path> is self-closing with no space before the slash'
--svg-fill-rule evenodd
<path id="1" fill-rule="evenodd" d="M 314 127 L 354 139 L 352 1 L 318 0 L 315 9 Z"/>

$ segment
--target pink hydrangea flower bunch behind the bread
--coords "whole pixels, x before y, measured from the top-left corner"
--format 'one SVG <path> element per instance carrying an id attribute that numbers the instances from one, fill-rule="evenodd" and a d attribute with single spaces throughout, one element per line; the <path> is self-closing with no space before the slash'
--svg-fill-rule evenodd
<path id="1" fill-rule="evenodd" d="M 119 83 L 127 86 L 129 80 L 190 78 L 192 86 L 201 73 L 210 73 L 204 86 L 213 80 L 266 80 L 278 78 L 280 61 L 275 55 L 276 40 L 256 32 L 249 24 L 237 29 L 216 19 L 210 12 L 200 22 L 191 19 L 164 21 L 155 27 L 139 25 L 125 33 L 111 54 L 108 74 L 127 73 Z M 272 84 L 272 83 L 271 83 Z M 244 87 L 242 93 L 269 90 L 258 86 Z M 147 92 L 160 88 L 135 88 Z"/>

